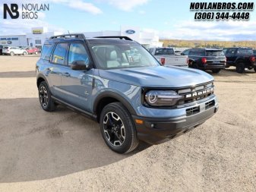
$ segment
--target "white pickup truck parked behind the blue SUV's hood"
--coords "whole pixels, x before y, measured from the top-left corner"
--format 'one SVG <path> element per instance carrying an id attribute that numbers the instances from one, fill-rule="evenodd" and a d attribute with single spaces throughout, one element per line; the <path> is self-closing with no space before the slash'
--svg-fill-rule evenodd
<path id="1" fill-rule="evenodd" d="M 161 65 L 188 67 L 187 55 L 175 55 L 171 47 L 150 48 L 148 51 L 158 60 Z"/>

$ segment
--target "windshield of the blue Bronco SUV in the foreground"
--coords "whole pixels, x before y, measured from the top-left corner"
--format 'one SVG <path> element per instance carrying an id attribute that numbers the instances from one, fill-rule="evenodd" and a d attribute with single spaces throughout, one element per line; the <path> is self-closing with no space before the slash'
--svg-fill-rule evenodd
<path id="1" fill-rule="evenodd" d="M 139 68 L 159 65 L 142 46 L 117 44 L 93 45 L 93 54 L 100 68 Z"/>

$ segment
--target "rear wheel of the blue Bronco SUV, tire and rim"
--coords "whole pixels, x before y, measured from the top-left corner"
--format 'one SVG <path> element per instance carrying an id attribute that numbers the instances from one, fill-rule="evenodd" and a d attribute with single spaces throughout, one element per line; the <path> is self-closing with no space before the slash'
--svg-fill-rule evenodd
<path id="1" fill-rule="evenodd" d="M 49 91 L 46 81 L 40 83 L 40 86 L 38 87 L 38 96 L 43 110 L 52 112 L 56 109 L 55 102 L 52 99 L 52 94 Z"/>

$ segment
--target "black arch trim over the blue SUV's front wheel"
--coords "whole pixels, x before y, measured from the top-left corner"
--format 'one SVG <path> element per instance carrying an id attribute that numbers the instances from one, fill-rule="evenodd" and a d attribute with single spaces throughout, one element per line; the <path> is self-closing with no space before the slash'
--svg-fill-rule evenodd
<path id="1" fill-rule="evenodd" d="M 137 115 L 137 112 L 133 109 L 131 104 L 122 96 L 120 96 L 118 93 L 114 93 L 112 91 L 106 91 L 103 93 L 100 93 L 96 99 L 93 102 L 93 113 L 96 114 L 97 106 L 99 105 L 100 101 L 104 98 L 111 97 L 112 99 L 116 99 L 119 102 L 122 103 L 122 105 L 125 105 L 126 109 L 131 113 L 131 115 Z"/>

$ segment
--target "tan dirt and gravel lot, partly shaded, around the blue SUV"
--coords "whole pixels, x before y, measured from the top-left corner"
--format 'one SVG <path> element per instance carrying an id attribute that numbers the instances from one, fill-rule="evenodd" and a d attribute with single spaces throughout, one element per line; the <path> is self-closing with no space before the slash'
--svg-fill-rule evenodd
<path id="1" fill-rule="evenodd" d="M 0 56 L 0 191 L 255 191 L 256 73 L 213 74 L 220 110 L 166 143 L 113 153 L 99 125 L 37 99 L 36 56 Z"/>

